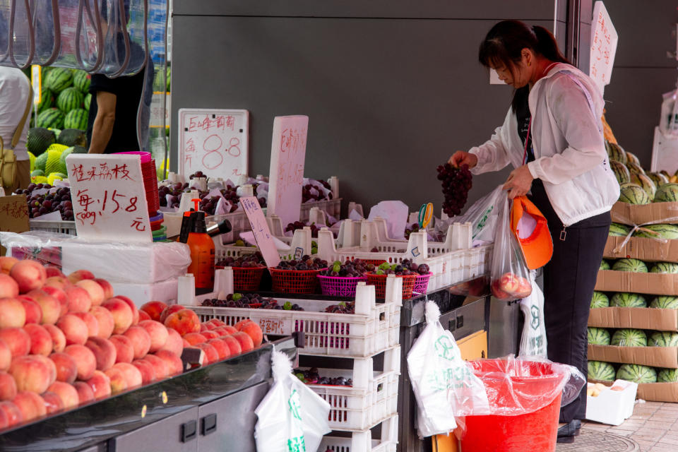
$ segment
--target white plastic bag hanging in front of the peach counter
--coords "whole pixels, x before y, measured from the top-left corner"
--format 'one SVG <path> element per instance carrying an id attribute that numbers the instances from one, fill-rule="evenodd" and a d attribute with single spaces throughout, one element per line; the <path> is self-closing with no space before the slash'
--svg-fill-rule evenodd
<path id="1" fill-rule="evenodd" d="M 292 374 L 283 352 L 271 357 L 273 386 L 254 410 L 254 439 L 258 452 L 316 451 L 328 424 L 330 405 Z"/>

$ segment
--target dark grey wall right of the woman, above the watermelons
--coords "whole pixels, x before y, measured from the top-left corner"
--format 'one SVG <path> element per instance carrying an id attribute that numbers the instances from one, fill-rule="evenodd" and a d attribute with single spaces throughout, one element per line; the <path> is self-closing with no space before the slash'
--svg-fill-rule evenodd
<path id="1" fill-rule="evenodd" d="M 619 144 L 649 169 L 662 93 L 675 89 L 678 76 L 677 61 L 666 56 L 676 50 L 672 32 L 678 4 L 606 0 L 605 6 L 619 33 L 611 83 L 605 88 L 607 121 Z"/>

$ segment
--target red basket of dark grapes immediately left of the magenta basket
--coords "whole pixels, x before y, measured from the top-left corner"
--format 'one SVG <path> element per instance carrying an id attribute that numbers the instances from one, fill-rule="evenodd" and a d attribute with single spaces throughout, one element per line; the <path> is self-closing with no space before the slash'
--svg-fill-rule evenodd
<path id="1" fill-rule="evenodd" d="M 303 256 L 299 261 L 280 261 L 268 268 L 273 292 L 314 294 L 318 292 L 318 275 L 327 269 L 327 261 Z"/>

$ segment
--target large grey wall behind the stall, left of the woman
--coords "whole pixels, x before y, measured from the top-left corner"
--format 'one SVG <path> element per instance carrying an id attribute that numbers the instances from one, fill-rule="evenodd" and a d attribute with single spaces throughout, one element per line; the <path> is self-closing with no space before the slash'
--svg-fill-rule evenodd
<path id="1" fill-rule="evenodd" d="M 173 121 L 182 107 L 248 109 L 250 174 L 268 174 L 273 117 L 307 114 L 305 175 L 338 176 L 345 203 L 366 208 L 401 199 L 439 212 L 436 166 L 487 140 L 511 100 L 477 63 L 480 41 L 503 18 L 554 25 L 542 0 L 196 3 L 174 0 Z M 507 174 L 475 177 L 471 201 Z"/>

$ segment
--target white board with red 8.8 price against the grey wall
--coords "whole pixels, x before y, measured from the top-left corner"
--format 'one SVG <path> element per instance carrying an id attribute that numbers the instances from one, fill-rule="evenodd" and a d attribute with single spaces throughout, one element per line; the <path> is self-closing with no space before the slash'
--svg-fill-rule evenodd
<path id="1" fill-rule="evenodd" d="M 179 174 L 246 175 L 248 136 L 247 110 L 179 109 Z"/>

